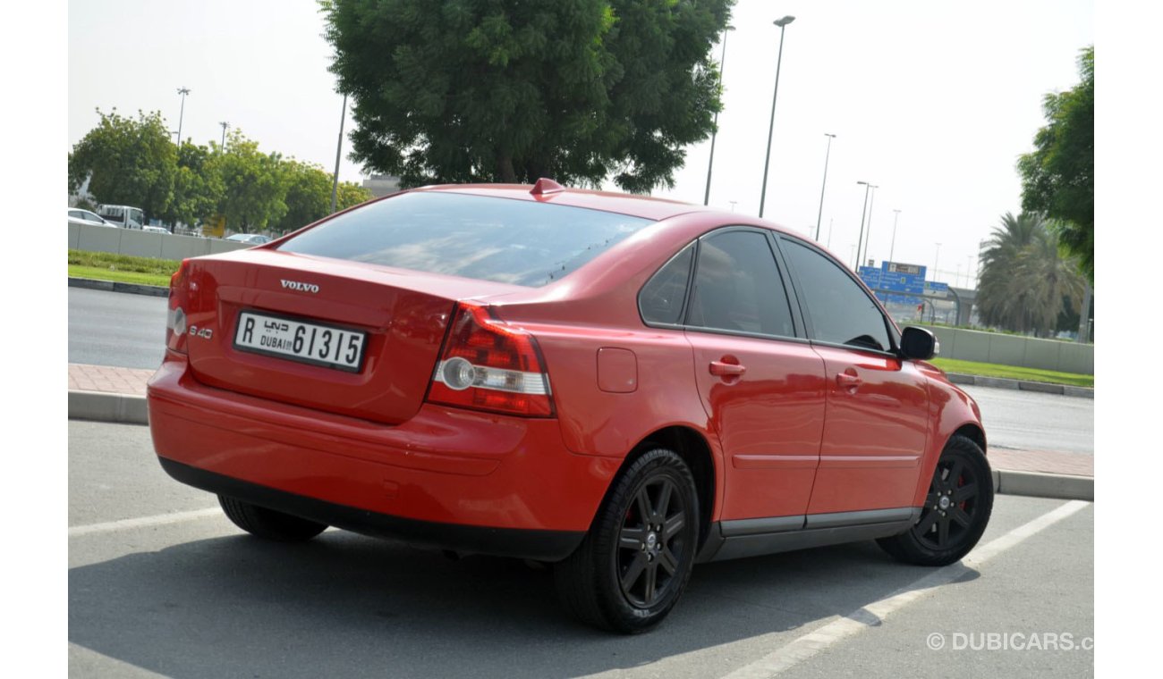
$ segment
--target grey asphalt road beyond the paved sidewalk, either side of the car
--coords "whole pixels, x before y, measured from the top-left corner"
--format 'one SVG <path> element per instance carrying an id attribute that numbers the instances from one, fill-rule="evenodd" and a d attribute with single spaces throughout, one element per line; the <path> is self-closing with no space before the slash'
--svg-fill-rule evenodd
<path id="1" fill-rule="evenodd" d="M 156 368 L 165 341 L 164 297 L 69 288 L 69 362 Z M 982 406 L 990 446 L 1094 453 L 1094 402 L 968 387 Z"/>

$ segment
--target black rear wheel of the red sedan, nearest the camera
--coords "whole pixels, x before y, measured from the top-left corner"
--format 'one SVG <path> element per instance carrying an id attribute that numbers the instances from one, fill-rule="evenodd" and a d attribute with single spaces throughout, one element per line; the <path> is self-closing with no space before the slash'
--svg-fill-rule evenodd
<path id="1" fill-rule="evenodd" d="M 614 482 L 590 532 L 555 564 L 557 593 L 578 620 L 645 631 L 678 604 L 699 541 L 699 497 L 673 450 L 649 450 Z"/>

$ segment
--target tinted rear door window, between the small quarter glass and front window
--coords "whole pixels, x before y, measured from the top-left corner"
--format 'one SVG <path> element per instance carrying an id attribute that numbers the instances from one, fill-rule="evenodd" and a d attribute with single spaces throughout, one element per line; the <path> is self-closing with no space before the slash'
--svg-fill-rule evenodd
<path id="1" fill-rule="evenodd" d="M 795 335 L 787 292 L 766 236 L 728 231 L 701 241 L 686 323 L 715 330 Z"/>

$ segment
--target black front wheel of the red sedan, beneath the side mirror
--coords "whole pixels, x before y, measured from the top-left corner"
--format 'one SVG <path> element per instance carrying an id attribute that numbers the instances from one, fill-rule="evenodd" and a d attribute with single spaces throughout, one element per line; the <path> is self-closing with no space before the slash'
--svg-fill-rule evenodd
<path id="1" fill-rule="evenodd" d="M 916 523 L 877 543 L 906 563 L 947 565 L 973 549 L 992 511 L 993 475 L 985 453 L 971 439 L 955 435 L 933 470 Z"/>

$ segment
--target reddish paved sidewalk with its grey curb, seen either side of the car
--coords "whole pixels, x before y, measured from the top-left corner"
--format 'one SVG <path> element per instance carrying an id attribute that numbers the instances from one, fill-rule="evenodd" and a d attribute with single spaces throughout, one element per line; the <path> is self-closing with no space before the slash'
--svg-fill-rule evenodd
<path id="1" fill-rule="evenodd" d="M 69 363 L 69 417 L 145 424 L 145 382 L 154 370 Z M 991 448 L 998 492 L 1094 499 L 1094 457 Z"/>

